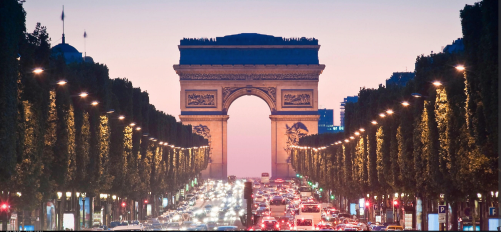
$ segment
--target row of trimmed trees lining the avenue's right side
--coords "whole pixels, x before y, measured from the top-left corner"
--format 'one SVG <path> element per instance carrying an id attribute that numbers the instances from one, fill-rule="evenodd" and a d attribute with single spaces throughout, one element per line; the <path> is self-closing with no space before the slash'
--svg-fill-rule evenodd
<path id="1" fill-rule="evenodd" d="M 404 87 L 361 88 L 358 102 L 346 104 L 345 132 L 302 138 L 293 168 L 352 199 L 443 194 L 457 211 L 477 193 L 490 197 L 499 171 L 497 4 L 461 10 L 464 52 L 418 56 Z"/>

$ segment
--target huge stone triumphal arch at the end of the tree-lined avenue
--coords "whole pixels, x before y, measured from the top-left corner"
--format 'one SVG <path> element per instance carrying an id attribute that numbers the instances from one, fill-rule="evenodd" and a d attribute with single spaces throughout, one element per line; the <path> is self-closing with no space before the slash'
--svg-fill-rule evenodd
<path id="1" fill-rule="evenodd" d="M 174 70 L 181 83 L 181 119 L 209 140 L 210 161 L 202 175 L 227 176 L 227 111 L 243 95 L 270 107 L 272 178 L 292 177 L 289 145 L 318 132 L 318 40 L 241 33 L 184 38 Z M 252 123 L 252 122 L 250 122 Z"/>

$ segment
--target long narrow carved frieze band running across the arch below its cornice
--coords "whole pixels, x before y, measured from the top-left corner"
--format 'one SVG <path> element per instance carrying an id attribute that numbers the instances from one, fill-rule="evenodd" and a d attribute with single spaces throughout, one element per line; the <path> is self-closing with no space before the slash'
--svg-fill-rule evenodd
<path id="1" fill-rule="evenodd" d="M 181 80 L 318 80 L 317 73 L 181 73 Z"/>

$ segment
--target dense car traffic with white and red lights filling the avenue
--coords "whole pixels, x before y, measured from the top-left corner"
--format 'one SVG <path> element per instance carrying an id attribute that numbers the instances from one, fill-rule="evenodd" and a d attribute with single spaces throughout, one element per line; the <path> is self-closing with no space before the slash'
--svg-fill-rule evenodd
<path id="1" fill-rule="evenodd" d="M 112 222 L 104 229 L 130 230 L 134 225 L 137 230 L 403 230 L 361 222 L 316 199 L 311 186 L 295 179 L 270 180 L 268 173 L 261 179 L 206 180 L 183 200 L 176 210 L 158 217 L 132 224 Z"/>

